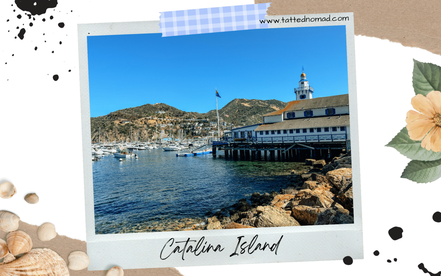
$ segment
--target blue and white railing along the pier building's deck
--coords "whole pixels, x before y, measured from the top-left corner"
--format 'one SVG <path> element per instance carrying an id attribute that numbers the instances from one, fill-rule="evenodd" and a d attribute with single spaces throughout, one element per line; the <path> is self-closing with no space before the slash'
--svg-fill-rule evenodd
<path id="1" fill-rule="evenodd" d="M 243 137 L 246 140 L 235 141 L 239 137 L 213 137 L 211 143 L 213 145 L 227 144 L 231 142 L 247 142 L 247 143 L 295 143 L 295 142 L 325 142 L 334 140 L 346 140 L 346 134 L 325 134 L 325 135 L 302 135 L 302 136 L 273 136 L 273 137 Z M 242 139 L 243 139 L 242 138 Z"/>

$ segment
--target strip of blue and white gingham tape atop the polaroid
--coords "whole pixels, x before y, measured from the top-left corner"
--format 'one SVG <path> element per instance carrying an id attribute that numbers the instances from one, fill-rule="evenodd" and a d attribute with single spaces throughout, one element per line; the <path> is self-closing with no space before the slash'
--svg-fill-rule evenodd
<path id="1" fill-rule="evenodd" d="M 162 36 L 206 34 L 231 30 L 268 28 L 266 10 L 271 3 L 163 11 L 159 16 Z"/>

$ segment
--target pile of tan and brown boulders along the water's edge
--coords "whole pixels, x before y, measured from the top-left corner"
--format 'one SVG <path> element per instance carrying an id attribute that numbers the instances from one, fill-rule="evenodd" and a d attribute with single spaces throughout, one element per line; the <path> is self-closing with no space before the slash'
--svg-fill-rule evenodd
<path id="1" fill-rule="evenodd" d="M 288 186 L 277 193 L 253 193 L 232 209 L 214 214 L 205 225 L 180 231 L 354 223 L 351 151 L 324 159 L 306 159 L 307 173 L 294 170 Z"/>

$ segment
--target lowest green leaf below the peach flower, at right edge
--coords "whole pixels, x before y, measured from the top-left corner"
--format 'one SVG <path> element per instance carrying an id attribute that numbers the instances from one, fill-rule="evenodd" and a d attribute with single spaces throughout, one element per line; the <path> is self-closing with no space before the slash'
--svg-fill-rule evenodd
<path id="1" fill-rule="evenodd" d="M 441 178 L 441 159 L 435 161 L 411 160 L 404 167 L 401 178 L 415 183 L 431 183 Z"/>

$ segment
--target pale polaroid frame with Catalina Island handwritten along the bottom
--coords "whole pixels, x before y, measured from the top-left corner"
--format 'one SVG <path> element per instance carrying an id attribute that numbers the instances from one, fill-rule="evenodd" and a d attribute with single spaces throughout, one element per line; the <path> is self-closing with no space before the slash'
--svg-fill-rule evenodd
<path id="1" fill-rule="evenodd" d="M 312 18 L 317 20 L 311 21 Z M 339 18 L 344 20 L 337 20 Z M 267 19 L 269 29 L 345 26 L 349 113 L 351 116 L 350 147 L 352 158 L 354 223 L 214 229 L 203 231 L 97 234 L 95 230 L 94 213 L 93 161 L 90 158 L 91 111 L 87 38 L 91 36 L 124 34 L 156 34 L 160 32 L 160 21 L 82 23 L 77 26 L 86 242 L 87 254 L 90 257 L 88 270 L 107 270 L 113 266 L 133 269 L 337 261 L 343 260 L 343 258 L 347 256 L 357 260 L 363 259 L 363 220 L 353 13 L 266 15 L 265 19 Z M 233 30 L 231 32 L 239 31 L 247 32 L 248 30 Z M 258 32 L 259 30 L 254 31 Z M 201 34 L 186 36 L 196 37 L 198 35 Z M 308 47 L 309 43 L 314 43 L 308 41 L 307 35 L 300 36 L 298 39 L 299 43 L 303 45 L 302 47 Z M 271 60 L 272 52 L 286 50 L 290 45 L 273 45 L 268 43 L 266 45 L 249 45 L 249 47 L 262 48 L 262 56 L 255 58 L 261 59 L 262 67 L 265 67 L 265 64 L 268 64 L 268 61 Z M 293 49 L 301 48 L 295 45 L 292 47 Z M 322 45 L 321 47 L 326 47 L 326 45 Z M 146 64 L 146 66 L 150 65 Z M 152 64 L 151 66 L 159 69 L 158 64 Z M 297 66 L 297 64 L 295 66 Z M 332 65 L 329 64 L 328 66 Z M 295 70 L 293 70 L 294 74 L 299 72 L 298 75 L 300 75 L 299 70 L 300 68 L 295 68 Z M 172 76 L 170 79 L 173 79 Z M 269 79 L 268 81 L 271 80 Z M 296 85 L 296 82 L 292 83 L 293 87 L 296 87 Z M 285 92 L 292 93 L 292 100 L 295 100 L 294 91 Z M 237 95 L 237 97 L 242 98 L 240 95 Z M 277 98 L 277 96 L 274 95 L 274 98 Z M 214 99 L 209 97 L 207 101 L 209 101 L 210 105 L 207 110 L 213 109 L 211 106 L 213 105 L 212 101 L 214 101 Z M 145 102 L 140 103 L 140 105 L 142 104 L 145 104 Z M 232 202 L 232 204 L 233 203 L 234 202 Z"/>

